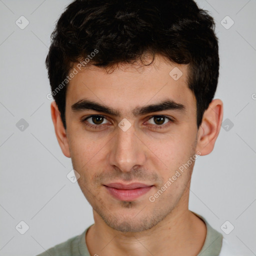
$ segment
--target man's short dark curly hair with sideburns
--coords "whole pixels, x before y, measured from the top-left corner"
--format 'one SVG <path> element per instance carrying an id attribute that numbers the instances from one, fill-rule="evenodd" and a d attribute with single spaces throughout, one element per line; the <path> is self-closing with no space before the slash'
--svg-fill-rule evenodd
<path id="1" fill-rule="evenodd" d="M 52 96 L 64 127 L 66 78 L 73 64 L 92 52 L 97 54 L 89 63 L 100 67 L 133 63 L 141 60 L 145 52 L 152 54 L 152 62 L 155 54 L 160 54 L 172 63 L 188 64 L 188 87 L 196 98 L 199 127 L 218 81 L 214 27 L 213 18 L 193 0 L 71 2 L 51 34 L 45 60 Z"/>

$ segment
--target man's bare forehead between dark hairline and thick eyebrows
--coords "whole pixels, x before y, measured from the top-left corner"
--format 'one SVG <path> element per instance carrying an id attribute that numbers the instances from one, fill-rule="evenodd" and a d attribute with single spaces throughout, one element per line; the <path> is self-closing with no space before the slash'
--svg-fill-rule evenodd
<path id="1" fill-rule="evenodd" d="M 74 65 L 75 66 L 75 65 Z M 112 69 L 90 65 L 69 81 L 66 106 L 90 98 L 120 111 L 166 99 L 195 105 L 187 85 L 187 65 L 156 56 L 150 65 L 119 64 Z"/>

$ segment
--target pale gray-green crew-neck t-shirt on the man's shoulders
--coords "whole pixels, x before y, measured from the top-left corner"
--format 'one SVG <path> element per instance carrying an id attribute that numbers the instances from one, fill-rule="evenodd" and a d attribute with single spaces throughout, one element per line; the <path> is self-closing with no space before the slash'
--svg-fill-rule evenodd
<path id="1" fill-rule="evenodd" d="M 202 216 L 196 215 L 204 221 L 207 229 L 204 244 L 197 256 L 219 256 L 222 247 L 222 234 L 213 229 Z M 93 256 L 89 254 L 85 241 L 85 234 L 90 226 L 80 235 L 69 238 L 37 256 Z"/>

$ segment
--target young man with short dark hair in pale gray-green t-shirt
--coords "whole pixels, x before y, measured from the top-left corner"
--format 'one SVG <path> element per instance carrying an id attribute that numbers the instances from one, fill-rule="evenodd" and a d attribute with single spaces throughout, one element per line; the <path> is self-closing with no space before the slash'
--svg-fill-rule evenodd
<path id="1" fill-rule="evenodd" d="M 192 0 L 76 0 L 46 58 L 51 115 L 94 224 L 42 255 L 233 255 L 188 210 L 222 120 L 214 22 Z"/>

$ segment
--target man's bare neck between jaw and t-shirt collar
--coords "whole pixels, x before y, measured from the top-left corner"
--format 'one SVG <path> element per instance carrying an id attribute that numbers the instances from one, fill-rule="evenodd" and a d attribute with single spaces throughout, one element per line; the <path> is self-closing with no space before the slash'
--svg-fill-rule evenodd
<path id="1" fill-rule="evenodd" d="M 154 227 L 141 232 L 112 229 L 93 210 L 95 223 L 86 233 L 91 255 L 188 255 L 196 256 L 206 236 L 204 222 L 177 205 Z"/>

